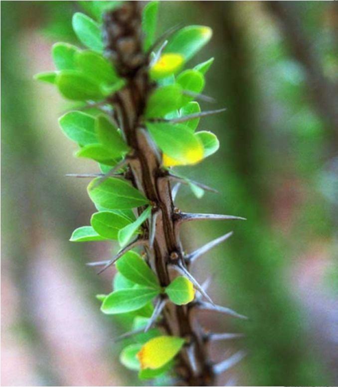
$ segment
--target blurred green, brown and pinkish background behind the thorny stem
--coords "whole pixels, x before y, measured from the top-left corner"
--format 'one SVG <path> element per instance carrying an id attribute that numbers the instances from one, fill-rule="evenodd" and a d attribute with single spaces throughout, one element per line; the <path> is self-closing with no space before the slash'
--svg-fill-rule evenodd
<path id="1" fill-rule="evenodd" d="M 338 2 L 162 1 L 159 33 L 206 24 L 211 43 L 191 64 L 215 56 L 205 93 L 227 111 L 201 121 L 216 155 L 186 175 L 219 194 L 178 194 L 186 211 L 245 216 L 246 222 L 186 227 L 185 246 L 234 230 L 201 258 L 210 295 L 250 317 L 201 315 L 217 332 L 243 332 L 214 345 L 214 361 L 244 348 L 247 358 L 220 379 L 228 386 L 338 384 Z M 57 125 L 69 108 L 52 86 L 32 80 L 53 69 L 51 44 L 74 41 L 76 1 L 2 1 L 2 386 L 135 386 L 113 339 L 128 327 L 99 312 L 112 271 L 105 242 L 68 242 L 89 224 L 94 172 Z"/>

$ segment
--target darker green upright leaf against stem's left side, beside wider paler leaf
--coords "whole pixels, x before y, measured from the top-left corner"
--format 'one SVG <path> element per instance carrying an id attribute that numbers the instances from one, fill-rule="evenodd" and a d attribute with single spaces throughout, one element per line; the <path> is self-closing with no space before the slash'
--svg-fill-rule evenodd
<path id="1" fill-rule="evenodd" d="M 129 147 L 117 128 L 104 116 L 97 117 L 96 132 L 100 142 L 111 152 L 113 157 L 121 157 Z"/>

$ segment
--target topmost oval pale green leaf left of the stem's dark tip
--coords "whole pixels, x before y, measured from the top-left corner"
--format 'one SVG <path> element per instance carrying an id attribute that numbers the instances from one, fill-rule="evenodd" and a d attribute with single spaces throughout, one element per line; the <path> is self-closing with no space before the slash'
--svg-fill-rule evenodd
<path id="1" fill-rule="evenodd" d="M 81 12 L 76 12 L 72 23 L 76 36 L 85 46 L 94 51 L 103 51 L 101 28 L 96 21 Z"/>

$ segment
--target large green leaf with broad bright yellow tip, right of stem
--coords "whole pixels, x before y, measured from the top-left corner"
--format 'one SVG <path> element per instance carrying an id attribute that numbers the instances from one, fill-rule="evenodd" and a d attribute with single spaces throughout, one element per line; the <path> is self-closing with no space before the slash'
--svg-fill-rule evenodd
<path id="1" fill-rule="evenodd" d="M 203 158 L 203 146 L 200 140 L 191 133 L 185 125 L 169 123 L 147 123 L 147 128 L 158 147 L 169 158 L 176 161 L 165 160 L 164 165 L 195 164 Z"/>

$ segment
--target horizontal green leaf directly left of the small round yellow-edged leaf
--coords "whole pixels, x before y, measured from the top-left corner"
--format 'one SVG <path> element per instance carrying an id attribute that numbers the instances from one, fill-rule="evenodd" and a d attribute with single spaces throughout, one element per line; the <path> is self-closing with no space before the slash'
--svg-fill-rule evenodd
<path id="1" fill-rule="evenodd" d="M 106 315 L 137 311 L 153 300 L 159 293 L 160 290 L 151 288 L 116 290 L 106 297 L 101 306 L 101 311 Z"/>

